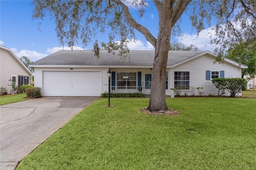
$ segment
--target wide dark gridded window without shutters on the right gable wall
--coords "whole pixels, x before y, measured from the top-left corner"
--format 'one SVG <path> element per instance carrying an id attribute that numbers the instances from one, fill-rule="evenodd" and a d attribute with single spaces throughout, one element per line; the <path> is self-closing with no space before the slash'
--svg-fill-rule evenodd
<path id="1" fill-rule="evenodd" d="M 174 87 L 189 89 L 189 71 L 174 71 Z"/>

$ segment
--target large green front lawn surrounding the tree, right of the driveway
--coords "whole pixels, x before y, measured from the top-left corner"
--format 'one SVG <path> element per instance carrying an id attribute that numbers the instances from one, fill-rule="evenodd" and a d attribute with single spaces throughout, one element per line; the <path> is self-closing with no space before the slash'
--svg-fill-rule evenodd
<path id="1" fill-rule="evenodd" d="M 140 113 L 149 99 L 101 98 L 38 146 L 27 169 L 256 169 L 256 99 L 168 98 L 176 116 Z M 190 134 L 195 130 L 199 134 Z"/>

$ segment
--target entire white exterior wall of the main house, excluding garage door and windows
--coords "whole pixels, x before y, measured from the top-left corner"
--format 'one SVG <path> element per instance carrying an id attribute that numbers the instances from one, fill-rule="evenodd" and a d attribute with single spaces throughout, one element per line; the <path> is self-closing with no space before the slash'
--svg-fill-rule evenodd
<path id="1" fill-rule="evenodd" d="M 241 77 L 241 69 L 227 63 L 224 61 L 223 64 L 215 63 L 215 58 L 211 55 L 203 55 L 187 61 L 186 63 L 182 63 L 173 68 L 167 68 L 168 71 L 168 89 L 166 89 L 166 95 L 171 95 L 172 90 L 170 88 L 174 88 L 174 71 L 189 71 L 190 72 L 190 84 L 189 86 L 194 87 L 203 87 L 202 91 L 204 95 L 217 95 L 217 89 L 212 84 L 211 80 L 206 80 L 206 70 L 210 71 L 224 71 L 224 77 Z M 76 68 L 73 67 L 73 70 L 70 70 L 72 67 L 35 67 L 34 72 L 34 86 L 41 87 L 43 89 L 43 71 L 101 71 L 102 72 L 102 93 L 108 92 L 108 76 L 107 71 L 108 68 Z M 142 72 L 142 82 L 145 85 L 145 74 L 152 73 L 150 68 L 110 68 L 111 71 L 117 72 Z M 110 79 L 110 86 L 112 86 L 112 79 Z M 138 74 L 137 74 L 137 81 L 138 81 Z M 144 94 L 150 94 L 145 91 L 144 87 Z M 183 94 L 181 94 L 183 95 Z M 196 95 L 197 91 L 196 91 Z M 227 94 L 228 95 L 228 94 Z"/>

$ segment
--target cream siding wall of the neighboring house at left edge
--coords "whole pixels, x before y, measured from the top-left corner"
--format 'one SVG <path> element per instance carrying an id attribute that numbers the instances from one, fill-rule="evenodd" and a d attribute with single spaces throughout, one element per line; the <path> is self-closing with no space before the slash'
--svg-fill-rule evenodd
<path id="1" fill-rule="evenodd" d="M 6 87 L 9 94 L 11 93 L 10 88 L 12 82 L 8 80 L 10 80 L 12 76 L 16 76 L 16 85 L 18 85 L 19 75 L 30 77 L 30 74 L 6 49 L 1 48 L 0 60 L 0 87 Z"/>

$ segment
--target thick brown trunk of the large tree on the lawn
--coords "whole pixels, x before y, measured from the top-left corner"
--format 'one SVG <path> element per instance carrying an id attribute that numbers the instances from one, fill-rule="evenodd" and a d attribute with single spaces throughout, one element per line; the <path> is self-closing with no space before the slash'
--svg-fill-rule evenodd
<path id="1" fill-rule="evenodd" d="M 168 109 L 165 99 L 166 66 L 172 30 L 172 7 L 174 2 L 166 1 L 159 8 L 159 32 L 155 46 L 150 101 L 148 110 L 165 111 Z"/>

